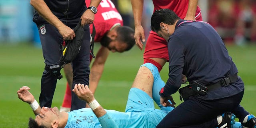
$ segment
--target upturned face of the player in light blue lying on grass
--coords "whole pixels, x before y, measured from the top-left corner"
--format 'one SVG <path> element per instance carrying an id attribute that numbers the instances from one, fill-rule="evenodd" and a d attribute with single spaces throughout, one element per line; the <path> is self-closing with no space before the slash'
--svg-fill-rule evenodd
<path id="1" fill-rule="evenodd" d="M 44 125 L 51 127 L 51 123 L 54 122 L 54 120 L 59 120 L 60 111 L 57 107 L 54 108 L 47 108 L 42 107 L 40 114 L 36 116 L 35 121 L 38 123 L 38 125 Z"/>

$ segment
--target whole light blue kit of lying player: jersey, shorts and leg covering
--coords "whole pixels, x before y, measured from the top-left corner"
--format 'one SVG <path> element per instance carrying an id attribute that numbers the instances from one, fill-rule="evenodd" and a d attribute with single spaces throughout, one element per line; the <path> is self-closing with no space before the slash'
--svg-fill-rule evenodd
<path id="1" fill-rule="evenodd" d="M 159 90 L 164 86 L 156 66 L 150 63 L 143 64 L 154 76 L 153 98 L 160 104 Z M 125 112 L 106 110 L 119 128 L 155 128 L 156 125 L 173 109 L 161 107 L 155 109 L 153 99 L 146 92 L 131 88 Z M 114 125 L 113 125 L 114 126 Z M 113 127 L 112 126 L 112 127 Z M 110 126 L 111 127 L 111 126 Z M 82 108 L 68 113 L 68 122 L 65 128 L 101 128 L 100 122 L 90 108 Z"/>

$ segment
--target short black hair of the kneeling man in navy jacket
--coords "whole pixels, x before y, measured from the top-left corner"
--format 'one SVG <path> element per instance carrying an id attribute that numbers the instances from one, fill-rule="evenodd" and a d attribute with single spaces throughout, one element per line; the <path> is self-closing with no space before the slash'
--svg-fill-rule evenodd
<path id="1" fill-rule="evenodd" d="M 177 16 L 170 9 L 160 9 L 155 10 L 153 15 L 151 16 L 151 30 L 154 32 L 158 32 L 160 30 L 160 23 L 163 22 L 168 25 L 173 25 L 176 20 L 180 20 L 180 17 Z"/>

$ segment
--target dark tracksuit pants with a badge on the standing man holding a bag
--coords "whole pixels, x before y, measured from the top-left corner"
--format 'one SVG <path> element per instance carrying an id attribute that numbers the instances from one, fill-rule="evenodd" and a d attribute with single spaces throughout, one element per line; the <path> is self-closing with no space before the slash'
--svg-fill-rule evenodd
<path id="1" fill-rule="evenodd" d="M 70 28 L 74 29 L 76 24 L 74 24 L 73 22 L 72 25 L 70 24 Z M 41 107 L 51 107 L 57 80 L 50 75 L 50 69 L 48 66 L 52 64 L 58 64 L 58 61 L 60 60 L 60 56 L 62 54 L 63 38 L 59 34 L 58 29 L 51 24 L 44 24 L 44 27 L 45 28 L 41 28 L 46 30 L 46 32 L 42 34 L 41 28 L 40 26 L 38 26 L 40 40 L 42 44 L 43 57 L 45 60 L 44 63 L 46 64 L 41 79 L 41 93 L 39 97 L 39 102 Z M 90 29 L 88 25 L 84 26 L 84 37 L 80 52 L 71 64 L 74 74 L 72 88 L 74 88 L 74 85 L 78 83 L 89 85 Z M 78 99 L 76 94 L 72 92 L 71 110 L 84 108 L 85 105 L 86 102 Z"/>

